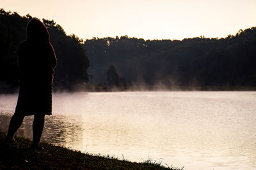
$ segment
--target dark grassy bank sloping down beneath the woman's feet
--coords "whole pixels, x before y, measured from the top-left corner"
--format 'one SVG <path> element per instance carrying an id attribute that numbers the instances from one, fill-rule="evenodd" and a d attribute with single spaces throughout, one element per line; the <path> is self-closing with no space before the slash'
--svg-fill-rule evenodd
<path id="1" fill-rule="evenodd" d="M 92 155 L 70 150 L 49 143 L 42 143 L 44 150 L 29 148 L 31 140 L 15 138 L 16 143 L 4 146 L 5 134 L 0 132 L 0 169 L 179 169 L 164 167 L 161 162 L 129 162 L 115 157 Z"/>

